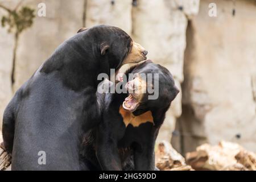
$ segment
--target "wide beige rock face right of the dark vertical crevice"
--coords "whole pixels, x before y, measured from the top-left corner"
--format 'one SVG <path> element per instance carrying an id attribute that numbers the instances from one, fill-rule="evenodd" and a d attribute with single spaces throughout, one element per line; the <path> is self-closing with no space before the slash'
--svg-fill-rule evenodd
<path id="1" fill-rule="evenodd" d="M 172 143 L 183 154 L 221 139 L 256 151 L 255 2 L 214 1 L 217 17 L 208 15 L 210 2 L 200 1 L 187 29 L 183 113 Z"/>

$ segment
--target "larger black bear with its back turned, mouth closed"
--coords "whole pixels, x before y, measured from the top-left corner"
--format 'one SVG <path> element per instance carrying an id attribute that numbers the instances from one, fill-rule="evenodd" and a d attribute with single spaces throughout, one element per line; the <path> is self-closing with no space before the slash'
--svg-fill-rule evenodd
<path id="1" fill-rule="evenodd" d="M 113 26 L 81 28 L 25 82 L 3 115 L 14 170 L 79 170 L 81 136 L 100 121 L 99 73 L 145 60 L 147 51 Z"/>

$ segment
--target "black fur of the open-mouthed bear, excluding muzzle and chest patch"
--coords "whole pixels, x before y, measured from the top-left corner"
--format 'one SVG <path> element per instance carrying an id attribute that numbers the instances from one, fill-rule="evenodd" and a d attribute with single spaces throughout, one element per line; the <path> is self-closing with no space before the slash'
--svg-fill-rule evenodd
<path id="1" fill-rule="evenodd" d="M 91 170 L 155 169 L 155 140 L 166 111 L 179 90 L 174 85 L 171 73 L 151 61 L 132 67 L 128 73 L 159 73 L 159 98 L 147 100 L 147 94 L 144 94 L 143 102 L 133 112 L 140 115 L 150 110 L 154 125 L 146 122 L 139 127 L 125 127 L 119 107 L 127 94 L 106 94 L 103 121 L 96 129 L 85 134 L 82 144 L 81 155 L 90 164 Z"/>

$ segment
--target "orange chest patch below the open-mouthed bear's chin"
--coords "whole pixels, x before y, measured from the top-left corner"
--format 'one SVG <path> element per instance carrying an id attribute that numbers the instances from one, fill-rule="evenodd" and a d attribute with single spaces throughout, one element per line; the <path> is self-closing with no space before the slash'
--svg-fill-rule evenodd
<path id="1" fill-rule="evenodd" d="M 138 127 L 142 123 L 151 122 L 154 125 L 154 120 L 152 117 L 151 111 L 147 111 L 141 115 L 135 116 L 133 113 L 126 111 L 122 106 L 119 107 L 119 113 L 122 115 L 123 122 L 127 127 L 129 124 L 133 125 L 133 127 Z"/>

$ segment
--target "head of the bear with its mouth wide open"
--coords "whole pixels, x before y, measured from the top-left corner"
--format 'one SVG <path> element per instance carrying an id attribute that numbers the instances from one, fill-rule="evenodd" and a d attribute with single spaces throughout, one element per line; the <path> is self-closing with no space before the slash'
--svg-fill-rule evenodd
<path id="1" fill-rule="evenodd" d="M 171 73 L 151 60 L 136 65 L 127 72 L 130 76 L 125 88 L 129 95 L 122 106 L 135 115 L 158 108 L 167 110 L 179 93 Z"/>

